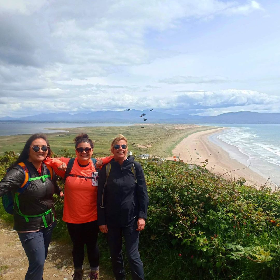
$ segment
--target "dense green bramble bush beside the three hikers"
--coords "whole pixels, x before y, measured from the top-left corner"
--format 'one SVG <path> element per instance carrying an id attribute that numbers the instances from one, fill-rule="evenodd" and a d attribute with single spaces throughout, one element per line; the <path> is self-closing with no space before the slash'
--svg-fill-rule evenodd
<path id="1" fill-rule="evenodd" d="M 60 154 L 74 156 L 67 150 Z M 0 178 L 15 157 L 13 152 L 0 157 Z M 150 199 L 139 243 L 146 279 L 279 279 L 279 190 L 217 177 L 206 170 L 207 160 L 202 167 L 141 164 Z M 55 205 L 59 223 L 54 237 L 69 242 L 61 220 L 63 199 L 56 197 Z M 0 218 L 7 218 L 2 208 Z M 101 263 L 107 264 L 103 235 L 99 241 Z"/>

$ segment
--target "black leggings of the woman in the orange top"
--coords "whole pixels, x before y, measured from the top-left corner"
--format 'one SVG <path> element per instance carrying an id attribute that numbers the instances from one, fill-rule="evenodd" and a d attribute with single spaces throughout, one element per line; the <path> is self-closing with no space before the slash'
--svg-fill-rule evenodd
<path id="1" fill-rule="evenodd" d="M 87 246 L 88 261 L 91 268 L 99 265 L 99 249 L 97 245 L 97 236 L 99 228 L 97 220 L 82 223 L 72 224 L 66 223 L 69 235 L 73 242 L 73 262 L 75 268 L 83 267 L 83 260 L 85 258 L 85 244 Z"/>

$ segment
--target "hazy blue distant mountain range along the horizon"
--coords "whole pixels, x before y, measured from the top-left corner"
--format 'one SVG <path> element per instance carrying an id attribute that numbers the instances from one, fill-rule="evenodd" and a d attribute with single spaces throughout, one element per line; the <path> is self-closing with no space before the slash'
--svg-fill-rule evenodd
<path id="1" fill-rule="evenodd" d="M 139 118 L 140 115 L 145 114 Z M 144 118 L 147 120 L 144 121 Z M 92 113 L 43 113 L 22 118 L 2 117 L 0 122 L 82 122 L 82 123 L 280 123 L 280 113 L 241 111 L 218 116 L 171 115 L 157 111 L 96 111 Z"/>

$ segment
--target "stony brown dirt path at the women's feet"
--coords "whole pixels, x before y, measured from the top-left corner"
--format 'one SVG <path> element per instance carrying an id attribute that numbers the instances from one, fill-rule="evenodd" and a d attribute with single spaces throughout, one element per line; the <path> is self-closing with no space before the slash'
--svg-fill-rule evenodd
<path id="1" fill-rule="evenodd" d="M 74 267 L 71 251 L 70 245 L 51 242 L 44 267 L 44 280 L 73 279 Z M 88 269 L 88 263 L 84 263 L 84 267 Z M 27 268 L 28 260 L 17 232 L 4 226 L 0 221 L 0 280 L 24 280 Z M 87 279 L 89 271 L 85 270 L 83 279 Z M 102 268 L 100 268 L 101 280 L 114 279 L 105 275 L 102 271 Z"/>

